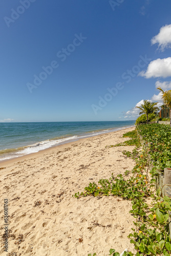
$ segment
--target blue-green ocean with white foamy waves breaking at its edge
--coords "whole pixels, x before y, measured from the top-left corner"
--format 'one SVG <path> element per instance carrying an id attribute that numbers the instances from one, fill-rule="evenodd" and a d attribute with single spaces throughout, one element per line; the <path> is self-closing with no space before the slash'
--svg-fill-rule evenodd
<path id="1" fill-rule="evenodd" d="M 0 123 L 0 161 L 132 127 L 133 121 Z"/>

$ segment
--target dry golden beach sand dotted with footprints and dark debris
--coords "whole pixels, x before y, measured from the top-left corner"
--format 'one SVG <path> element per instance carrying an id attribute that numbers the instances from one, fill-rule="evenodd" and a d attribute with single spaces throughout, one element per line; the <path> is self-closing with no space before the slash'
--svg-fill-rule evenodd
<path id="1" fill-rule="evenodd" d="M 127 238 L 135 220 L 131 201 L 117 197 L 72 198 L 90 182 L 131 170 L 125 131 L 102 134 L 0 164 L 2 255 L 106 256 L 133 250 Z M 131 150 L 134 147 L 124 147 Z M 9 250 L 3 248 L 4 199 L 9 201 Z"/>

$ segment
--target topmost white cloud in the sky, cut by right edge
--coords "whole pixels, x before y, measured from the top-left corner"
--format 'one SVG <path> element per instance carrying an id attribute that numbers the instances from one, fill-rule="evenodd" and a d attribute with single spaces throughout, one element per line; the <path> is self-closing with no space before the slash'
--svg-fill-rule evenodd
<path id="1" fill-rule="evenodd" d="M 165 48 L 171 48 L 171 24 L 163 26 L 159 34 L 154 36 L 151 41 L 152 45 L 158 44 L 161 51 L 164 51 Z"/>

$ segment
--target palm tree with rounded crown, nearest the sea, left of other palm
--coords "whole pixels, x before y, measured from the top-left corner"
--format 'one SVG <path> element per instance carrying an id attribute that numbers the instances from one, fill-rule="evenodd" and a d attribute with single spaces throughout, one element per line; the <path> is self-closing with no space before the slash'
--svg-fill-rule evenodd
<path id="1" fill-rule="evenodd" d="M 141 112 L 139 113 L 141 114 L 146 114 L 146 119 L 147 119 L 147 123 L 148 123 L 148 115 L 150 113 L 156 113 L 157 111 L 159 111 L 159 108 L 156 106 L 158 102 L 150 102 L 149 100 L 144 100 L 144 103 L 141 104 L 140 106 L 136 106 L 136 108 L 140 109 Z"/>

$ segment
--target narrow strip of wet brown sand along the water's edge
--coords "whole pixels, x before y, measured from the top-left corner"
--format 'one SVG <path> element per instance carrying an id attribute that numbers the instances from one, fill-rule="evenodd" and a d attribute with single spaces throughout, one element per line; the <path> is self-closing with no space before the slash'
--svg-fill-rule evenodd
<path id="1" fill-rule="evenodd" d="M 135 125 L 133 125 L 133 126 L 129 126 L 129 127 L 124 127 L 124 128 L 118 128 L 116 131 L 108 131 L 108 132 L 106 132 L 106 133 L 101 133 L 101 134 L 98 134 L 98 135 L 88 135 L 88 136 L 86 136 L 86 138 L 76 138 L 76 139 L 72 139 L 72 140 L 66 140 L 66 141 L 63 141 L 63 142 L 60 142 L 59 144 L 57 144 L 57 145 L 52 145 L 52 146 L 50 146 L 50 147 L 48 147 L 48 148 L 45 148 L 45 149 L 43 149 L 43 150 L 39 150 L 38 152 L 35 152 L 35 153 L 29 153 L 29 154 L 25 154 L 25 155 L 23 155 L 23 156 L 18 156 L 18 157 L 13 157 L 13 158 L 9 158 L 9 159 L 4 159 L 4 160 L 1 160 L 0 159 L 0 166 L 1 166 L 1 164 L 2 163 L 4 163 L 4 162 L 8 162 L 8 161 L 10 161 L 10 160 L 14 160 L 14 159 L 20 159 L 20 158 L 22 158 L 23 159 L 23 157 L 26 157 L 26 156 L 31 156 L 31 155 L 34 155 L 34 154 L 38 154 L 39 152 L 46 152 L 47 150 L 50 150 L 50 149 L 52 149 L 52 148 L 55 148 L 55 147 L 59 147 L 59 146 L 62 146 L 62 145 L 66 145 L 66 144 L 70 144 L 70 143 L 74 143 L 74 142 L 76 142 L 76 141 L 80 141 L 80 140 L 84 140 L 84 139 L 87 139 L 87 138 L 92 138 L 92 137 L 97 137 L 97 136 L 100 136 L 100 135 L 105 135 L 105 134 L 108 134 L 108 133 L 115 133 L 115 132 L 117 132 L 117 131 L 122 131 L 122 130 L 126 130 L 126 129 L 130 129 L 130 128 L 132 128 L 132 127 L 135 127 Z M 114 130 L 114 129 L 111 129 L 111 130 Z M 103 131 L 103 130 L 102 130 Z M 104 130 L 105 131 L 105 130 Z M 37 142 L 38 143 L 38 142 Z M 30 145 L 29 145 L 30 146 Z M 29 147 L 28 146 L 28 147 Z"/>

